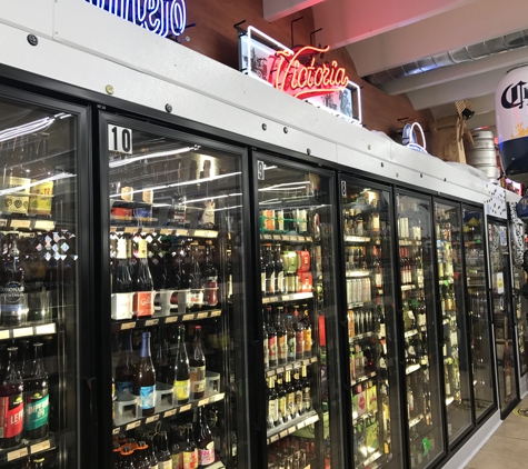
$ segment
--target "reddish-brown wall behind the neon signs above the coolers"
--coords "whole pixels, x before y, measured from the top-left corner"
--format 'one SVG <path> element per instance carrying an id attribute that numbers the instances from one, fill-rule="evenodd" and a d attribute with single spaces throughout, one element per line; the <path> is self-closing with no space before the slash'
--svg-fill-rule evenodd
<path id="1" fill-rule="evenodd" d="M 262 0 L 189 0 L 187 2 L 188 23 L 197 26 L 185 31 L 183 36 L 190 38 L 183 41 L 183 47 L 200 52 L 233 69 L 238 66 L 238 39 L 233 24 L 242 20 L 242 26 L 255 26 L 285 46 L 291 43 L 291 21 L 302 17 L 293 23 L 293 38 L 296 44 L 309 44 L 310 33 L 313 31 L 313 16 L 311 9 L 302 10 L 293 16 L 273 21 L 272 23 L 262 18 Z M 317 43 L 317 33 L 315 34 Z M 323 44 L 325 46 L 325 44 Z M 398 119 L 407 118 L 409 121 L 417 120 L 426 131 L 427 148 L 432 154 L 438 153 L 437 133 L 434 128 L 434 117 L 430 111 L 415 111 L 406 96 L 391 97 L 361 80 L 356 72 L 356 67 L 343 49 L 337 49 L 326 54 L 325 59 L 338 60 L 346 67 L 350 80 L 362 87 L 362 114 L 363 124 L 369 130 L 380 130 L 396 141 L 401 141 L 397 129 L 404 123 Z"/>

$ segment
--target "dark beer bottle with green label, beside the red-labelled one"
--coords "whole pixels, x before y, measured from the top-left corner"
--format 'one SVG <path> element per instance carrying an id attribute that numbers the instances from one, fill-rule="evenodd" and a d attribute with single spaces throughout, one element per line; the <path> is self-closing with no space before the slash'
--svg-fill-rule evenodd
<path id="1" fill-rule="evenodd" d="M 23 432 L 28 440 L 46 438 L 49 430 L 49 382 L 42 362 L 42 343 L 33 343 L 34 360 L 23 389 Z"/>

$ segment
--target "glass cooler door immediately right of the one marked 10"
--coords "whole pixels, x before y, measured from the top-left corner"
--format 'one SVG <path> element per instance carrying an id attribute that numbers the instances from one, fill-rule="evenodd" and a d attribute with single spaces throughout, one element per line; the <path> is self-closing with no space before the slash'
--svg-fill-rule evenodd
<path id="1" fill-rule="evenodd" d="M 332 413 L 340 399 L 331 381 L 338 372 L 332 180 L 278 160 L 258 166 L 263 467 L 343 467 L 339 435 L 330 431 L 341 418 Z"/>

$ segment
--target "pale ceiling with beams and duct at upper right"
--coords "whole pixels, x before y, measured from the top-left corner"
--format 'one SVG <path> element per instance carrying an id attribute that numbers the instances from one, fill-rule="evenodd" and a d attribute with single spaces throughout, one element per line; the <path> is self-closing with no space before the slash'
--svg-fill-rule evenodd
<path id="1" fill-rule="evenodd" d="M 357 72 L 388 94 L 406 93 L 435 119 L 468 99 L 470 129 L 495 127 L 495 91 L 528 63 L 527 0 L 262 0 L 273 21 L 312 8 L 317 42 L 345 48 Z"/>

